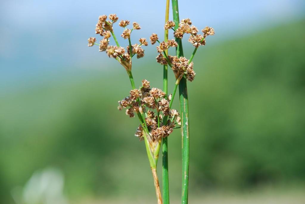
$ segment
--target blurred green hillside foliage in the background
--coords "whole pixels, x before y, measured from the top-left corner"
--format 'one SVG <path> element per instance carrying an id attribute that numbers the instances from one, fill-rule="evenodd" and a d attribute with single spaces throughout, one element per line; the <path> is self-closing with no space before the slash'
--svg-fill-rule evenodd
<path id="1" fill-rule="evenodd" d="M 196 80 L 188 83 L 190 191 L 304 183 L 304 23 L 199 49 Z M 136 83 L 148 70 L 145 78 L 162 87 L 162 68 L 153 57 L 148 62 L 151 69 L 134 70 Z M 111 73 L 61 76 L 60 82 L 1 97 L 3 203 L 10 203 L 13 187 L 48 166 L 63 170 L 69 197 L 154 196 L 144 143 L 133 137 L 138 121 L 117 110 L 130 87 L 127 75 L 115 66 Z M 177 98 L 174 107 L 178 109 Z M 180 132 L 175 130 L 169 138 L 173 194 L 180 193 L 180 157 Z"/>

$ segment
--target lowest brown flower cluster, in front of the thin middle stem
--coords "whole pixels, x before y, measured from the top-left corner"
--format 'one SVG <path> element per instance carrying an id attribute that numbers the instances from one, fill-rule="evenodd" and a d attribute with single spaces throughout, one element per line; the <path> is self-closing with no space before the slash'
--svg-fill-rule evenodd
<path id="1" fill-rule="evenodd" d="M 167 137 L 173 132 L 173 128 L 180 122 L 177 110 L 169 109 L 169 100 L 166 94 L 158 88 L 150 88 L 150 83 L 146 79 L 142 80 L 140 89 L 130 91 L 130 95 L 119 101 L 118 109 L 126 108 L 126 114 L 129 117 L 135 117 L 136 114 L 144 116 L 149 133 L 148 139 L 156 141 L 161 137 Z M 159 119 L 158 119 L 159 116 Z M 162 123 L 164 116 L 168 116 L 166 124 Z M 159 127 L 158 127 L 159 121 Z M 145 131 L 142 125 L 139 125 L 135 136 L 143 139 Z"/>

